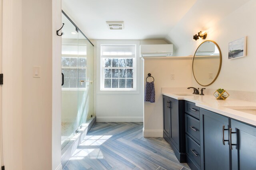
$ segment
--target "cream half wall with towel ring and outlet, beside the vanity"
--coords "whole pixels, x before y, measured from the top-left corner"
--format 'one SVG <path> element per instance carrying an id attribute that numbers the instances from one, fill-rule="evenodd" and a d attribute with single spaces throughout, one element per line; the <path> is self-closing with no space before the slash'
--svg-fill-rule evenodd
<path id="1" fill-rule="evenodd" d="M 147 74 L 154 77 L 155 103 L 144 102 L 144 137 L 162 137 L 163 101 L 162 87 L 189 87 L 192 79 L 192 58 L 144 59 L 144 80 Z M 171 73 L 175 79 L 171 80 Z M 145 83 L 145 82 L 144 82 Z"/>

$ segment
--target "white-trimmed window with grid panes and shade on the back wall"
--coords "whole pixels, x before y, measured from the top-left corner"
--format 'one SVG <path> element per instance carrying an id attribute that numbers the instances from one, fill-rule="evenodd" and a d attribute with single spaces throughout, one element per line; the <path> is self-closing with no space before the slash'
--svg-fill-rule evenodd
<path id="1" fill-rule="evenodd" d="M 136 90 L 136 44 L 101 44 L 101 90 Z"/>

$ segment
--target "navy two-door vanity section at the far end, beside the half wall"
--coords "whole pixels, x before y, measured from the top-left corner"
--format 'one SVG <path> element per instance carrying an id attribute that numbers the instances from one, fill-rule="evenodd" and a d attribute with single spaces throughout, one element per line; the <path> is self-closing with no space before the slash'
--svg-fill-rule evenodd
<path id="1" fill-rule="evenodd" d="M 180 162 L 186 162 L 184 100 L 163 95 L 163 137 Z"/>

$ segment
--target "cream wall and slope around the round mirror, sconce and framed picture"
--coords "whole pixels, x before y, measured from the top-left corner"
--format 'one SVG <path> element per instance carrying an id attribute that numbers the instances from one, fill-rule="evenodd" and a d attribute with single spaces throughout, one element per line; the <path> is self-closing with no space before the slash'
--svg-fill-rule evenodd
<path id="1" fill-rule="evenodd" d="M 202 6 L 206 8 L 200 8 Z M 194 55 L 203 41 L 193 41 L 192 36 L 202 29 L 210 30 L 206 40 L 213 40 L 219 45 L 222 68 L 217 80 L 206 88 L 256 91 L 255 9 L 255 0 L 198 0 L 168 34 L 168 40 L 175 44 L 176 55 L 186 56 Z M 244 36 L 247 36 L 246 57 L 228 60 L 228 43 Z M 194 78 L 192 86 L 200 87 Z"/>

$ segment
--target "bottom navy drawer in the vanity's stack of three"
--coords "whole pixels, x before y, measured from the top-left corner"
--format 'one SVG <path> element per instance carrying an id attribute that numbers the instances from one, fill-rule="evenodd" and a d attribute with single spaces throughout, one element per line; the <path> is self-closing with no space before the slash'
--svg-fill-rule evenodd
<path id="1" fill-rule="evenodd" d="M 186 135 L 186 154 L 193 160 L 193 162 L 201 167 L 200 146 L 188 135 Z"/>

